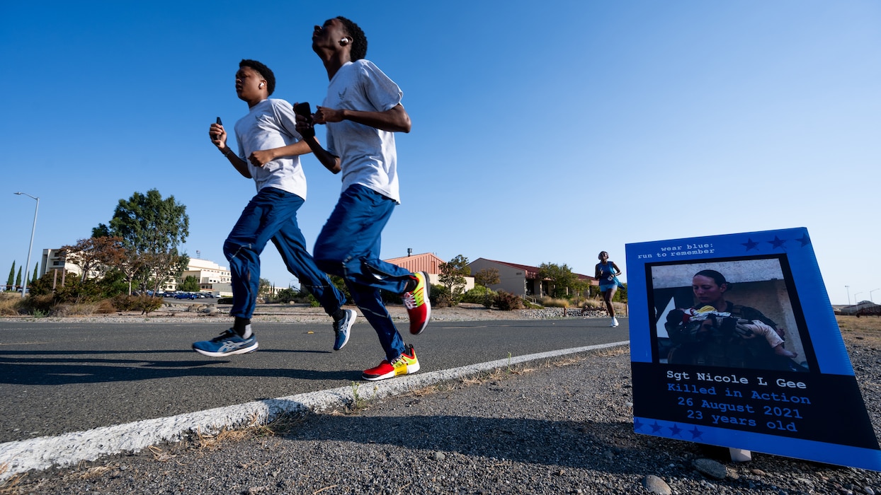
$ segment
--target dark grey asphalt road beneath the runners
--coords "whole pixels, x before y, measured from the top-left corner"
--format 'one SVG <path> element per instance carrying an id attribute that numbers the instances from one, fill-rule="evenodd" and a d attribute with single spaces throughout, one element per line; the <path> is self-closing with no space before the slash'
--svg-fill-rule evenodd
<path id="1" fill-rule="evenodd" d="M 432 323 L 416 348 L 420 372 L 626 340 L 606 318 Z M 359 319 L 342 351 L 329 324 L 261 322 L 260 348 L 208 358 L 192 342 L 218 324 L 0 322 L 0 442 L 83 431 L 285 397 L 360 381 L 382 359 Z"/>

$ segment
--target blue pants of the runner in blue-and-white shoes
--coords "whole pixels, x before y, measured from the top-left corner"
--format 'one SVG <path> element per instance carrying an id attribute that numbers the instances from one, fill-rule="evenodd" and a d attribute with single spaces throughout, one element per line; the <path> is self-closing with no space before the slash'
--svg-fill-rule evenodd
<path id="1" fill-rule="evenodd" d="M 241 212 L 239 221 L 235 222 L 223 244 L 233 275 L 233 309 L 230 310 L 233 317 L 250 318 L 254 315 L 260 287 L 260 253 L 270 239 L 278 248 L 288 272 L 300 280 L 300 288 L 314 295 L 328 315 L 345 302 L 344 295 L 315 266 L 315 260 L 306 251 L 306 239 L 297 224 L 297 210 L 303 202 L 296 194 L 263 187 Z"/>

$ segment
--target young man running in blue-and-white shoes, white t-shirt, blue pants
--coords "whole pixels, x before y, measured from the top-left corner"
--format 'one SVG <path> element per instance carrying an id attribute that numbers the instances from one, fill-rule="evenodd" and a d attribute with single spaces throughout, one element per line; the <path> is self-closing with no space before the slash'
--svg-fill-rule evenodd
<path id="1" fill-rule="evenodd" d="M 233 328 L 193 344 L 193 350 L 206 356 L 256 350 L 251 317 L 260 287 L 260 253 L 270 241 L 278 248 L 288 271 L 300 280 L 300 288 L 314 295 L 333 317 L 335 351 L 345 346 L 355 322 L 354 309 L 342 309 L 345 296 L 315 266 L 297 225 L 297 210 L 306 200 L 306 175 L 300 166 L 300 155 L 310 149 L 296 131 L 291 104 L 270 99 L 273 91 L 275 76 L 270 68 L 254 60 L 241 61 L 235 74 L 235 92 L 248 104 L 248 114 L 235 123 L 239 154 L 226 146 L 226 130 L 219 121 L 208 130 L 211 142 L 235 170 L 254 179 L 257 194 L 241 212 L 223 246 L 233 279 Z"/>

